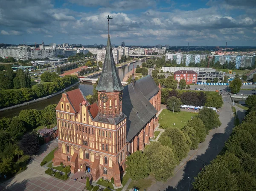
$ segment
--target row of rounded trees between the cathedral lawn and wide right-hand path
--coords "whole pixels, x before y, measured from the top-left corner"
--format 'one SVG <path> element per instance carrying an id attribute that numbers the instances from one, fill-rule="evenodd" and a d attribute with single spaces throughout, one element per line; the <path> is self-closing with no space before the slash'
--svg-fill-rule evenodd
<path id="1" fill-rule="evenodd" d="M 192 118 L 181 130 L 167 128 L 159 142 L 151 142 L 144 152 L 136 151 L 126 159 L 126 171 L 132 180 L 139 180 L 153 174 L 158 181 L 166 181 L 174 174 L 175 166 L 185 158 L 190 149 L 197 149 L 204 142 L 209 129 L 221 122 L 215 111 L 204 108 L 198 117 Z M 212 114 L 212 119 L 207 116 Z M 210 125 L 206 127 L 206 125 Z"/>

